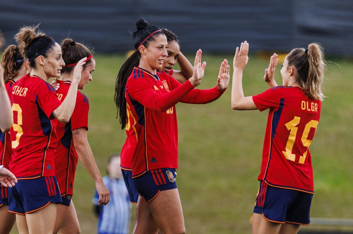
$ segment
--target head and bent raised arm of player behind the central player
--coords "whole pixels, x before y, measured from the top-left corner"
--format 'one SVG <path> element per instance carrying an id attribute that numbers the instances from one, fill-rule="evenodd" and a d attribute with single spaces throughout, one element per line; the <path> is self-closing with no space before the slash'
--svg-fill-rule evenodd
<path id="1" fill-rule="evenodd" d="M 180 52 L 180 42 L 177 35 L 168 29 L 161 29 L 164 35 L 167 37 L 168 56 L 163 60 L 161 71 L 165 71 L 167 74 L 173 76 L 175 80 L 180 83 L 184 83 L 187 78 L 192 76 L 193 67 L 189 60 Z M 180 71 L 173 70 L 175 63 L 179 64 Z"/>

